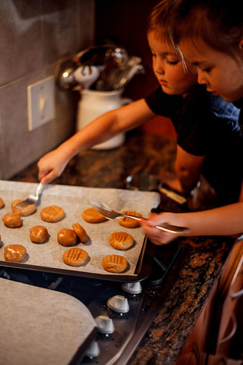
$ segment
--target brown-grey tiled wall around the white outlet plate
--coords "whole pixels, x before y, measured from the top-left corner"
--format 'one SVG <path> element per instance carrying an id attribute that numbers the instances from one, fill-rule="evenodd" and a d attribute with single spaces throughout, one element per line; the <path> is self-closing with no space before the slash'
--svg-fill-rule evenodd
<path id="1" fill-rule="evenodd" d="M 94 42 L 95 0 L 1 0 L 0 179 L 37 161 L 75 131 L 78 96 L 56 85 L 56 117 L 28 132 L 27 86 Z"/>

